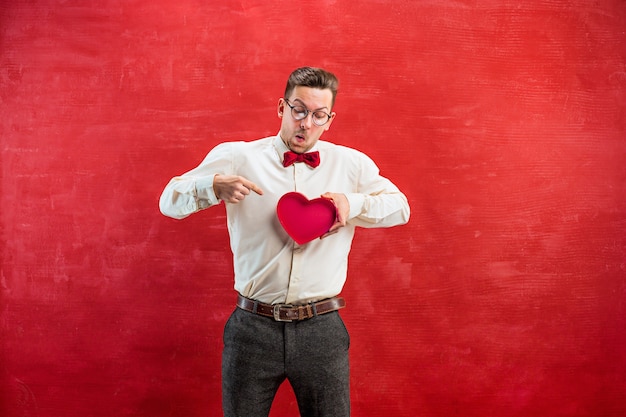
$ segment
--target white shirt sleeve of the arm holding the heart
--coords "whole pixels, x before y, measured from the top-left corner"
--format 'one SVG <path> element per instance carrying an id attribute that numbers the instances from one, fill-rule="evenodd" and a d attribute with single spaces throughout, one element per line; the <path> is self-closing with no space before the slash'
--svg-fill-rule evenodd
<path id="1" fill-rule="evenodd" d="M 367 155 L 359 153 L 356 192 L 347 193 L 350 203 L 349 223 L 355 226 L 391 227 L 409 221 L 411 209 L 406 196 Z"/>

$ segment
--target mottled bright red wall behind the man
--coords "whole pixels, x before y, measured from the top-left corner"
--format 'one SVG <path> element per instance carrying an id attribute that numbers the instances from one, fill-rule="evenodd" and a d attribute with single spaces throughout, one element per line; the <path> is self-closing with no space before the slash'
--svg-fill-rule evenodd
<path id="1" fill-rule="evenodd" d="M 2 2 L 0 414 L 221 414 L 224 210 L 157 200 L 318 65 L 325 138 L 413 211 L 354 242 L 353 414 L 626 415 L 625 28 L 620 0 Z"/>

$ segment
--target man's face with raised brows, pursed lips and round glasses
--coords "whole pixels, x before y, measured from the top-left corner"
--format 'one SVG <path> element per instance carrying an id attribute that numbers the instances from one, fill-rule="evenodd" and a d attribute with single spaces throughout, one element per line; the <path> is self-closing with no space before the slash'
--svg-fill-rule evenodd
<path id="1" fill-rule="evenodd" d="M 285 98 L 291 106 L 304 107 L 310 111 L 309 114 L 302 120 L 294 119 Z M 298 86 L 293 89 L 290 97 L 285 98 L 278 100 L 278 117 L 282 119 L 280 137 L 292 151 L 307 152 L 317 143 L 322 133 L 330 128 L 335 118 L 335 113 L 331 111 L 333 93 L 329 89 Z M 331 116 L 323 126 L 318 126 L 313 122 L 311 112 L 318 110 Z"/>

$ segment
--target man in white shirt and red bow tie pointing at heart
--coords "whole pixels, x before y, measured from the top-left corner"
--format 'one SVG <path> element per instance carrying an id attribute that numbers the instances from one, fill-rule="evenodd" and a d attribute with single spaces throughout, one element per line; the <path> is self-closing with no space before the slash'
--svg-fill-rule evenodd
<path id="1" fill-rule="evenodd" d="M 226 203 L 239 293 L 224 329 L 227 417 L 267 416 L 285 379 L 301 416 L 350 415 L 350 340 L 337 295 L 354 230 L 404 224 L 410 209 L 370 158 L 319 140 L 335 119 L 337 87 L 325 70 L 296 69 L 278 100 L 277 136 L 217 145 L 161 196 L 161 212 L 176 219 Z M 292 191 L 334 203 L 336 222 L 320 239 L 299 245 L 281 227 L 277 202 Z"/>

